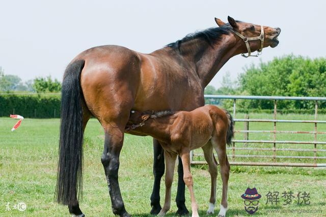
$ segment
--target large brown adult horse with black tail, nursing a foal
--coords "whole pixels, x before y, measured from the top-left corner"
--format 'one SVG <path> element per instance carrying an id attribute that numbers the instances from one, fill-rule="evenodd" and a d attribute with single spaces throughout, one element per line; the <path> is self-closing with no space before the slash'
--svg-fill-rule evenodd
<path id="1" fill-rule="evenodd" d="M 118 183 L 119 155 L 130 111 L 191 111 L 203 106 L 205 86 L 231 57 L 246 53 L 248 46 L 257 51 L 261 45 L 275 47 L 279 43 L 279 28 L 263 27 L 264 41 L 245 43 L 239 34 L 259 36 L 261 26 L 231 17 L 229 23 L 217 18 L 215 21 L 219 28 L 188 35 L 151 54 L 115 45 L 99 46 L 79 54 L 67 66 L 62 83 L 56 196 L 59 203 L 68 205 L 70 213 L 84 215 L 77 192 L 82 186 L 83 134 L 91 115 L 99 120 L 105 133 L 101 161 L 113 213 L 130 216 Z M 162 148 L 154 141 L 152 213 L 160 210 L 159 182 L 164 174 L 164 160 L 158 159 L 161 153 Z M 178 214 L 184 214 L 183 172 L 179 171 Z"/>

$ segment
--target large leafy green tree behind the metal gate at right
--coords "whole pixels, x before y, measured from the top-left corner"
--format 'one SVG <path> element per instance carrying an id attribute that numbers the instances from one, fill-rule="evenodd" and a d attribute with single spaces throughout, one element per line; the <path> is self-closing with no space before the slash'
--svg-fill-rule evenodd
<path id="1" fill-rule="evenodd" d="M 324 97 L 326 59 L 288 55 L 258 66 L 251 65 L 239 76 L 239 91 L 250 95 Z M 271 101 L 251 101 L 250 107 L 273 108 Z M 325 105 L 325 103 L 323 103 Z M 279 101 L 280 109 L 312 109 L 313 102 Z"/>

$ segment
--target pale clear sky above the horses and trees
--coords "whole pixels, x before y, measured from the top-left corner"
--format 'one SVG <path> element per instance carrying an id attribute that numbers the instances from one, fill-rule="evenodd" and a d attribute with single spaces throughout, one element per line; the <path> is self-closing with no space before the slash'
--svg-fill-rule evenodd
<path id="1" fill-rule="evenodd" d="M 286 54 L 326 57 L 326 1 L 2 1 L 0 66 L 23 81 L 62 80 L 67 64 L 90 47 L 117 44 L 151 53 L 188 33 L 215 27 L 227 16 L 282 29 L 279 45 L 263 55 L 231 58 L 210 85 L 220 87 L 228 72 Z"/>

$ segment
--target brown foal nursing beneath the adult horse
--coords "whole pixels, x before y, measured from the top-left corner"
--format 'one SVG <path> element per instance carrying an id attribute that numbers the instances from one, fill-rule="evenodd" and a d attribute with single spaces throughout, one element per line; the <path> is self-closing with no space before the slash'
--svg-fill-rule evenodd
<path id="1" fill-rule="evenodd" d="M 128 125 L 126 130 L 140 130 L 142 133 L 157 139 L 164 149 L 166 196 L 165 204 L 159 215 L 165 215 L 170 209 L 174 166 L 179 155 L 183 165 L 183 180 L 189 189 L 192 201 L 192 216 L 198 216 L 189 156 L 191 150 L 198 148 L 202 148 L 204 151 L 211 176 L 211 195 L 207 213 L 214 212 L 218 168 L 213 154 L 212 148 L 214 148 L 218 154 L 223 182 L 221 210 L 218 216 L 225 216 L 228 207 L 227 190 L 230 172 L 226 144 L 230 144 L 233 137 L 233 119 L 227 111 L 213 105 L 202 106 L 190 112 L 131 111 Z"/>

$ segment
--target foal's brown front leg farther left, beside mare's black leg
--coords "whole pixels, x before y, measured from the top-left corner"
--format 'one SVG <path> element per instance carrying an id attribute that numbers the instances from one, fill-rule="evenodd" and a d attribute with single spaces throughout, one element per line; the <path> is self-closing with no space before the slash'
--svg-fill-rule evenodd
<path id="1" fill-rule="evenodd" d="M 171 186 L 173 182 L 173 173 L 175 160 L 177 158 L 176 154 L 164 151 L 165 161 L 166 161 L 166 173 L 165 173 L 165 202 L 163 208 L 158 213 L 158 215 L 164 216 L 171 207 Z"/>

